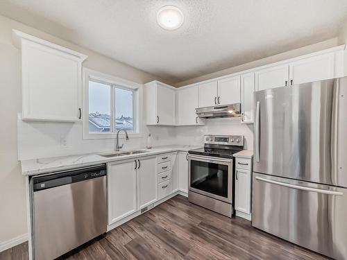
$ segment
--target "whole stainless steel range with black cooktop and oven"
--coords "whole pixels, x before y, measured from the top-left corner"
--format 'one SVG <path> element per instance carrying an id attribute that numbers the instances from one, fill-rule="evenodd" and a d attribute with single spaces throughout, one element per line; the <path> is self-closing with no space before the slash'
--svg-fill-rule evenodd
<path id="1" fill-rule="evenodd" d="M 242 135 L 205 135 L 204 147 L 188 151 L 188 200 L 231 218 L 232 155 L 243 150 Z"/>

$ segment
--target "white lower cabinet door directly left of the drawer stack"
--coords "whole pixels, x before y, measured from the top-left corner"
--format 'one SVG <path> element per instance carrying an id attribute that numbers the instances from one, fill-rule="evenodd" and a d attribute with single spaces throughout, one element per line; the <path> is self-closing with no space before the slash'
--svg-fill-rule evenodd
<path id="1" fill-rule="evenodd" d="M 143 209 L 155 202 L 157 196 L 157 172 L 155 157 L 137 160 L 137 209 Z"/>

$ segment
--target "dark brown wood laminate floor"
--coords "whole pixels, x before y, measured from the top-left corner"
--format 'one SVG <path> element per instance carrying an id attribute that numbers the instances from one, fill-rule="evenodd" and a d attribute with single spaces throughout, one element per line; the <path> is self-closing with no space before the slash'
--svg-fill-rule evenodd
<path id="1" fill-rule="evenodd" d="M 28 244 L 0 253 L 28 259 Z M 62 259 L 325 259 L 176 196 Z"/>

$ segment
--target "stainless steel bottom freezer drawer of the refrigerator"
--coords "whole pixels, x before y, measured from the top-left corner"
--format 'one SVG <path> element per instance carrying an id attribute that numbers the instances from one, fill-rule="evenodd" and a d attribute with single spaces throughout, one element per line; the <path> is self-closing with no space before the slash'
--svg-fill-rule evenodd
<path id="1" fill-rule="evenodd" d="M 253 173 L 252 225 L 347 259 L 347 189 Z"/>

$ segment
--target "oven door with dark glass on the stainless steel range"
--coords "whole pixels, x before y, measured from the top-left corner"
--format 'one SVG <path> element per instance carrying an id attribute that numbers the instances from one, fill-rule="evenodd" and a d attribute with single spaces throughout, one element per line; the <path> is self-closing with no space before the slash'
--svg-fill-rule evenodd
<path id="1" fill-rule="evenodd" d="M 232 159 L 188 155 L 189 191 L 232 203 Z"/>

